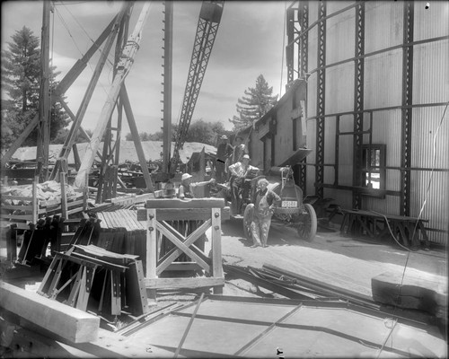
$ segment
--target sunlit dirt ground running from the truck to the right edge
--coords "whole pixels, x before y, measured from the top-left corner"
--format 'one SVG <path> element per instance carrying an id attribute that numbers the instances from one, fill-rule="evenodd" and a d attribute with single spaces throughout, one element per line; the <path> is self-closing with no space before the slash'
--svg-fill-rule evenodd
<path id="1" fill-rule="evenodd" d="M 224 262 L 242 267 L 270 264 L 371 296 L 371 278 L 385 272 L 407 276 L 434 275 L 447 292 L 447 256 L 442 250 L 403 250 L 393 240 L 357 239 L 317 232 L 313 242 L 301 241 L 293 228 L 273 224 L 268 248 L 250 248 L 243 238 L 242 220 L 222 224 Z M 405 268 L 405 270 L 404 270 Z"/>

